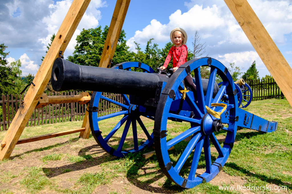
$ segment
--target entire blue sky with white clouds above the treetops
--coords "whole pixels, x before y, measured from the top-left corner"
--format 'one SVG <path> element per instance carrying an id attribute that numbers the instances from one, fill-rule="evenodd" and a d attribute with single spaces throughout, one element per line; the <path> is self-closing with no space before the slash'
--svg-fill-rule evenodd
<path id="1" fill-rule="evenodd" d="M 20 59 L 22 76 L 36 74 L 53 33 L 65 18 L 73 0 L 1 0 L 0 44 L 9 52 L 9 63 Z M 116 1 L 91 0 L 75 31 L 64 57 L 72 55 L 76 37 L 82 29 L 110 25 Z M 292 66 L 292 0 L 248 0 L 260 21 Z M 187 33 L 187 47 L 192 50 L 194 33 L 199 32 L 206 53 L 229 67 L 235 63 L 246 72 L 253 61 L 260 77 L 269 71 L 223 0 L 132 0 L 124 21 L 127 45 L 135 51 L 134 41 L 144 49 L 154 38 L 159 48 L 170 42 L 176 27 Z"/>

